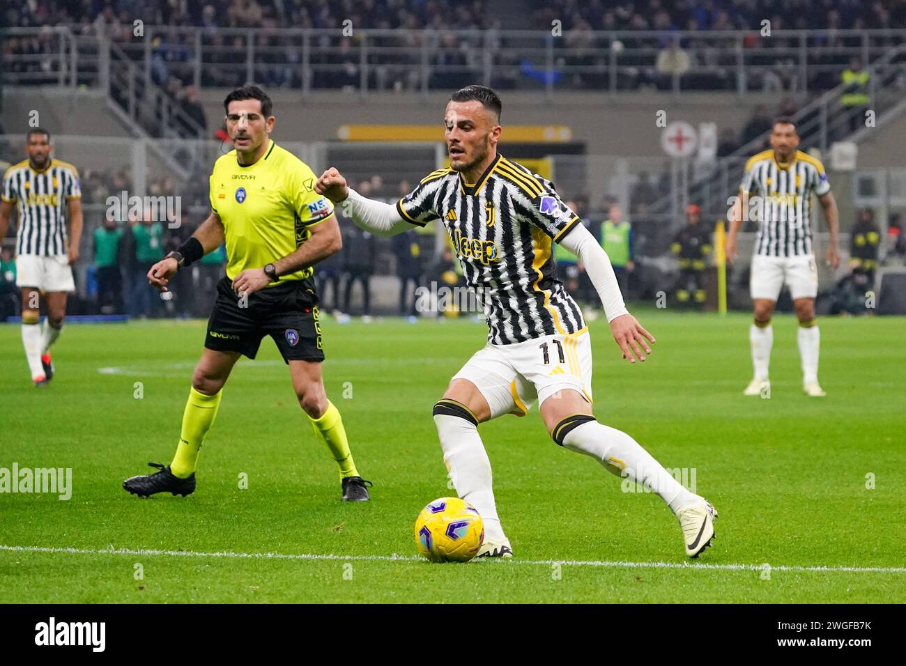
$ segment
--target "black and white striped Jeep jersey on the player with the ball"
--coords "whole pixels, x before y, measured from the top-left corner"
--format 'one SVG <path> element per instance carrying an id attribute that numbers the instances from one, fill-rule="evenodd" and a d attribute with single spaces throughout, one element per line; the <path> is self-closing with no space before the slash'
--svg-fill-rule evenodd
<path id="1" fill-rule="evenodd" d="M 397 210 L 419 226 L 443 221 L 466 284 L 484 308 L 490 343 L 584 328 L 551 251 L 581 221 L 551 181 L 498 154 L 477 183 L 464 182 L 453 169 L 430 173 Z"/>

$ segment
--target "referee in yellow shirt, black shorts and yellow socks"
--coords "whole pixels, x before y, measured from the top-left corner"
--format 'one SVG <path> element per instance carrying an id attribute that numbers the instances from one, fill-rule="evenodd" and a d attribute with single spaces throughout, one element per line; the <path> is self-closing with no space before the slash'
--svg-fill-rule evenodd
<path id="1" fill-rule="evenodd" d="M 211 214 L 178 250 L 153 265 L 151 285 L 166 291 L 169 278 L 226 241 L 226 277 L 207 323 L 205 350 L 192 375 L 176 456 L 159 471 L 127 478 L 122 487 L 140 497 L 195 490 L 198 449 L 217 416 L 226 378 L 241 354 L 254 359 L 270 335 L 289 365 L 299 405 L 340 468 L 342 498 L 366 501 L 370 481 L 359 476 L 340 412 L 327 399 L 324 353 L 313 265 L 342 247 L 331 202 L 314 191 L 314 174 L 270 139 L 270 98 L 256 86 L 230 92 L 226 130 L 236 150 L 214 164 Z"/>

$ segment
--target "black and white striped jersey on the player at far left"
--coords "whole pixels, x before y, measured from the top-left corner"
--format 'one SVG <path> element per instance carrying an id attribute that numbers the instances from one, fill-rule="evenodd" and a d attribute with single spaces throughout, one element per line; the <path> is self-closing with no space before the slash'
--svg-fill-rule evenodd
<path id="1" fill-rule="evenodd" d="M 66 254 L 66 202 L 82 197 L 78 169 L 52 159 L 47 169 L 35 171 L 25 159 L 6 169 L 0 196 L 19 209 L 17 255 Z"/>

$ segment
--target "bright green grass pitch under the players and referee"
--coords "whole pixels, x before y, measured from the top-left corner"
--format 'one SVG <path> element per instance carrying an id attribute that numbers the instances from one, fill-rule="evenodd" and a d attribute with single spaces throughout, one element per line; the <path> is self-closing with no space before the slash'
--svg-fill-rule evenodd
<path id="1" fill-rule="evenodd" d="M 668 468 L 696 468 L 718 507 L 710 565 L 901 567 L 906 471 L 902 318 L 824 317 L 821 380 L 800 390 L 795 319 L 775 318 L 770 400 L 746 398 L 750 317 L 641 311 L 658 339 L 621 361 L 592 324 L 595 414 Z M 419 510 L 447 487 L 431 406 L 483 343 L 483 324 L 323 323 L 325 384 L 372 501 L 340 501 L 333 461 L 294 400 L 273 343 L 226 385 L 198 490 L 140 500 L 123 478 L 169 462 L 201 322 L 73 324 L 57 376 L 28 380 L 17 325 L 0 326 L 0 467 L 72 468 L 72 499 L 0 494 L 0 545 L 339 555 L 332 560 L 0 550 L 0 602 L 872 602 L 906 601 L 906 573 L 631 568 L 683 564 L 660 499 L 624 493 L 591 458 L 560 449 L 533 408 L 481 426 L 511 562 L 430 565 L 346 556 L 415 554 Z M 107 369 L 107 370 L 104 370 Z M 112 370 L 111 370 L 112 369 Z M 135 398 L 135 382 L 143 398 Z M 346 383 L 348 382 L 348 383 Z M 350 396 L 344 399 L 343 391 Z M 240 489 L 240 473 L 248 488 Z M 872 473 L 876 486 L 866 488 Z M 520 560 L 522 561 L 520 563 Z M 539 561 L 539 564 L 528 562 Z M 144 578 L 135 580 L 134 565 Z M 345 574 L 345 575 L 344 575 Z"/>

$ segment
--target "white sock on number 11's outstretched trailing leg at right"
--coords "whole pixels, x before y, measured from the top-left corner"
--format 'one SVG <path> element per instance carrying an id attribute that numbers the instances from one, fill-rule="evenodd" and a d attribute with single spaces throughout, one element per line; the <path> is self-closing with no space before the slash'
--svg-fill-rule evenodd
<path id="1" fill-rule="evenodd" d="M 701 501 L 622 430 L 590 420 L 566 433 L 563 442 L 566 449 L 597 458 L 612 474 L 651 487 L 673 513 Z"/>

